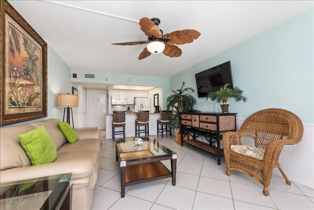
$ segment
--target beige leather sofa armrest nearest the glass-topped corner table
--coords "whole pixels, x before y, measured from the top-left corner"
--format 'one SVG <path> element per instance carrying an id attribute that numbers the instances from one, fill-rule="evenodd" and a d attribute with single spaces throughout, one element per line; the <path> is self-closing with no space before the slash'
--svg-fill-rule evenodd
<path id="1" fill-rule="evenodd" d="M 42 165 L 32 165 L 2 170 L 0 171 L 0 183 L 15 182 L 66 173 L 72 173 L 74 182 L 75 180 L 80 180 L 80 182 L 82 182 L 85 179 L 86 183 L 88 183 L 94 170 L 94 161 L 89 159 L 52 162 Z"/>

